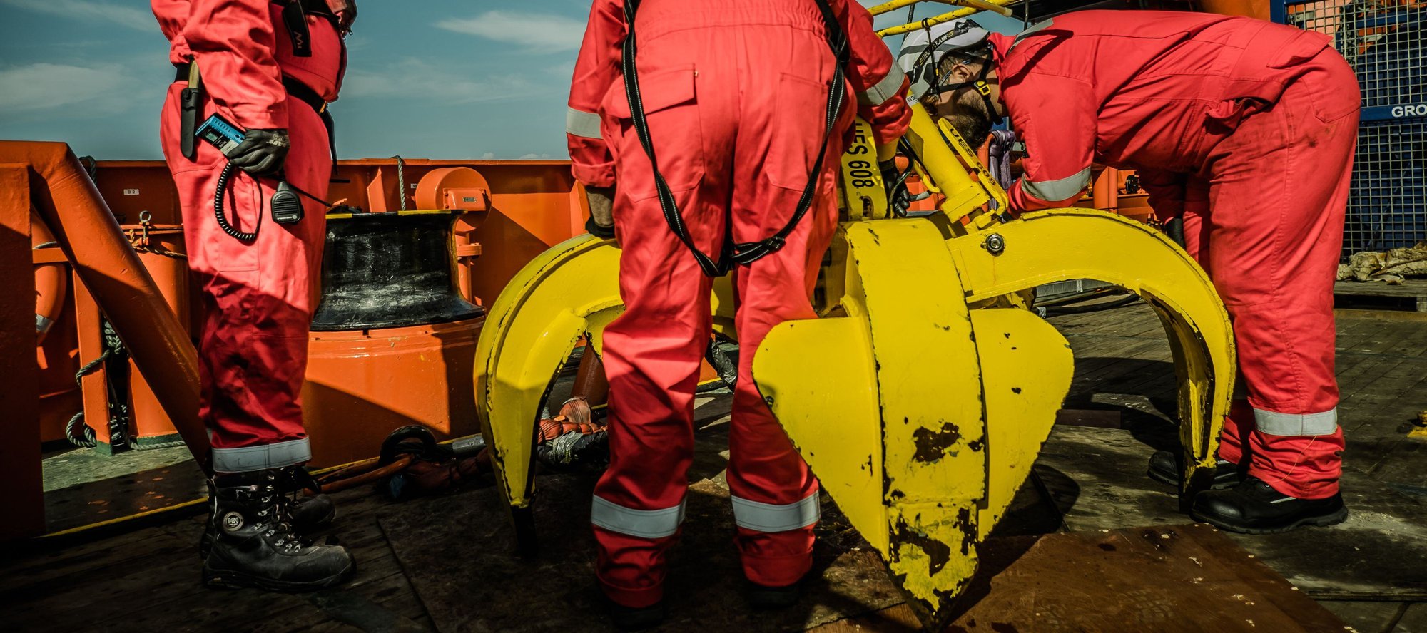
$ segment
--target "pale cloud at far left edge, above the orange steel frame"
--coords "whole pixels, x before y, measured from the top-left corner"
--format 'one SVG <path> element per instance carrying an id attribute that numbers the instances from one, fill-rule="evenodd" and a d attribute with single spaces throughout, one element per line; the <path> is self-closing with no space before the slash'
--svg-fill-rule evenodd
<path id="1" fill-rule="evenodd" d="M 16 66 L 0 70 L 0 111 L 114 114 L 133 106 L 133 86 L 136 81 L 117 64 L 96 68 L 46 63 Z M 73 106 L 84 107 L 59 110 Z"/>

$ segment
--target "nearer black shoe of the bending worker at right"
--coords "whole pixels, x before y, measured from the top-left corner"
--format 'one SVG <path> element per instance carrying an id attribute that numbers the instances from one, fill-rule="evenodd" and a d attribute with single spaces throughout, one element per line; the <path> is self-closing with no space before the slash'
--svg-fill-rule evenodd
<path id="1" fill-rule="evenodd" d="M 1347 519 L 1347 506 L 1341 493 L 1327 499 L 1299 499 L 1250 476 L 1229 490 L 1200 492 L 1190 516 L 1230 532 L 1273 535 L 1301 525 L 1341 523 Z"/>

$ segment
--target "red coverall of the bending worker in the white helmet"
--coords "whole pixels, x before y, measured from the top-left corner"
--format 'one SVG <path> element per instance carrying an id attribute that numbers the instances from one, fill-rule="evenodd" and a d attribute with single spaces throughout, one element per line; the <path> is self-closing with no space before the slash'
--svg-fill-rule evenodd
<path id="1" fill-rule="evenodd" d="M 1234 324 L 1247 401 L 1230 411 L 1220 458 L 1284 495 L 1333 496 L 1331 287 L 1360 96 L 1329 37 L 1244 17 L 1082 11 L 992 41 L 1029 153 L 1012 205 L 1069 205 L 1092 161 L 1139 170 L 1156 212 L 1184 217 L 1187 249 Z"/>

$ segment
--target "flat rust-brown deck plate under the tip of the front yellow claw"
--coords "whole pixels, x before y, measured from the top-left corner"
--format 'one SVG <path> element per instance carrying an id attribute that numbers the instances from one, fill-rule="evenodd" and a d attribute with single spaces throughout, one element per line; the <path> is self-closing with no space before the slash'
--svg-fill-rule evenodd
<path id="1" fill-rule="evenodd" d="M 1086 583 L 1085 579 L 1096 579 Z M 948 632 L 1273 630 L 1344 624 L 1204 525 L 987 542 Z M 916 630 L 905 604 L 813 629 Z"/>

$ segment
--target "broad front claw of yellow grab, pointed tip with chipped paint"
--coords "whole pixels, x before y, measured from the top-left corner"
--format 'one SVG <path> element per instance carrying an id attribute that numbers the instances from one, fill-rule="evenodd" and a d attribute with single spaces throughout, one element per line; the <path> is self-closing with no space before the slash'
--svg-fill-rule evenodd
<path id="1" fill-rule="evenodd" d="M 932 222 L 850 222 L 842 237 L 846 316 L 775 326 L 753 378 L 910 603 L 940 623 L 1050 432 L 1070 351 L 1026 311 L 969 311 Z"/>

